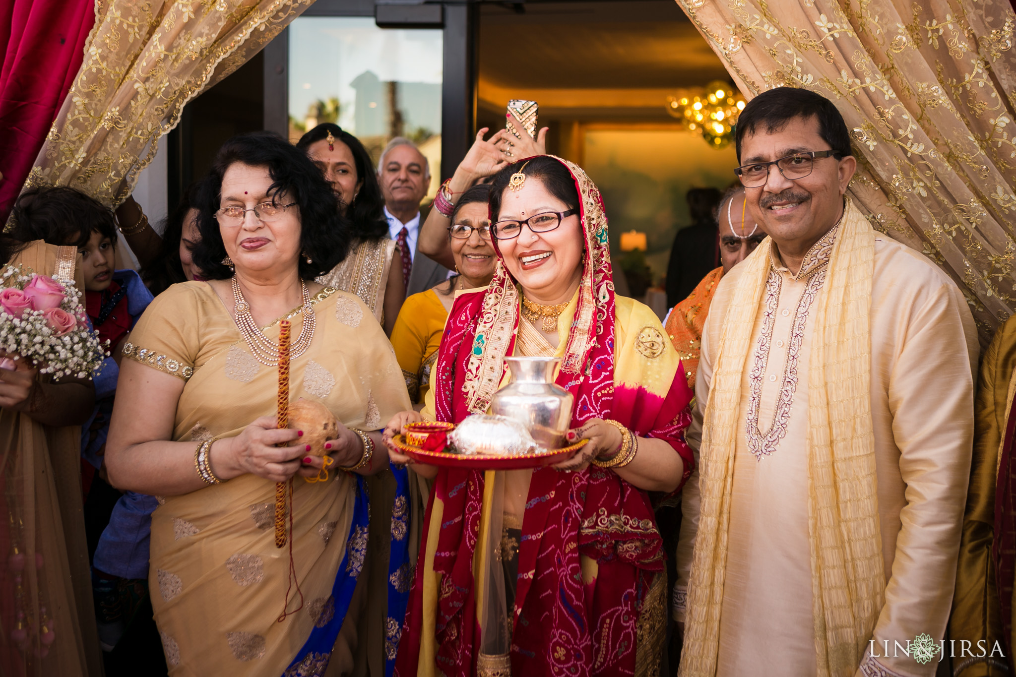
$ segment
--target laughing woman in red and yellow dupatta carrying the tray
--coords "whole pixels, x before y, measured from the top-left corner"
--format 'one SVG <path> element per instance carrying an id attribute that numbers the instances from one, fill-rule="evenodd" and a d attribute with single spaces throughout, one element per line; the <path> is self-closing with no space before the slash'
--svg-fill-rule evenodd
<path id="1" fill-rule="evenodd" d="M 544 355 L 575 398 L 569 441 L 589 444 L 538 470 L 414 466 L 435 482 L 404 625 L 389 619 L 395 674 L 656 674 L 666 595 L 649 495 L 677 491 L 693 463 L 680 359 L 652 311 L 615 297 L 602 200 L 581 168 L 550 155 L 505 167 L 491 220 L 494 279 L 457 295 L 426 407 L 386 438 L 487 411 L 506 355 Z M 601 467 L 629 434 L 631 462 Z"/>

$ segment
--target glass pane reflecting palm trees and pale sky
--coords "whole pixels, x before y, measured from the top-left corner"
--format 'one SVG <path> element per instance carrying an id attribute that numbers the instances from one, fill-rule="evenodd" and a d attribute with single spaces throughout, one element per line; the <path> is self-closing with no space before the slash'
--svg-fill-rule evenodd
<path id="1" fill-rule="evenodd" d="M 306 16 L 290 24 L 290 140 L 322 122 L 356 135 L 377 161 L 395 136 L 441 174 L 440 29 L 379 28 L 372 17 Z"/>

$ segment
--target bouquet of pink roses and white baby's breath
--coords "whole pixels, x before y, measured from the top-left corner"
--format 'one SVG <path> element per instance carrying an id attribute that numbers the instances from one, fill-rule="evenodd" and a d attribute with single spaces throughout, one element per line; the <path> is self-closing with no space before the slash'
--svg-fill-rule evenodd
<path id="1" fill-rule="evenodd" d="M 7 266 L 0 275 L 0 351 L 30 360 L 57 379 L 91 379 L 109 353 L 80 298 L 73 284 Z M 4 358 L 0 368 L 13 363 Z"/>

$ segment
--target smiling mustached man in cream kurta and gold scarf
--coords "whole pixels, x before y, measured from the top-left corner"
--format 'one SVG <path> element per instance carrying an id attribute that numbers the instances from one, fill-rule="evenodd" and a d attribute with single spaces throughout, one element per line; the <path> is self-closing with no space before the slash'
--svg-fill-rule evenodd
<path id="1" fill-rule="evenodd" d="M 680 674 L 933 675 L 937 655 L 895 642 L 945 633 L 973 320 L 944 273 L 845 197 L 856 160 L 828 99 L 759 94 L 737 149 L 770 236 L 723 276 L 702 336 Z"/>

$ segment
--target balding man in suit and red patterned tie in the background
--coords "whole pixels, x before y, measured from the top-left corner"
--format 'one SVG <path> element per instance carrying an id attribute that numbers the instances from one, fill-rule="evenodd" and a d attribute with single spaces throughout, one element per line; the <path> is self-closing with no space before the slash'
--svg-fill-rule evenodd
<path id="1" fill-rule="evenodd" d="M 378 181 L 385 201 L 388 233 L 402 257 L 405 295 L 426 291 L 447 279 L 448 269 L 418 250 L 420 201 L 427 195 L 431 170 L 417 145 L 401 136 L 388 142 L 378 162 Z"/>

